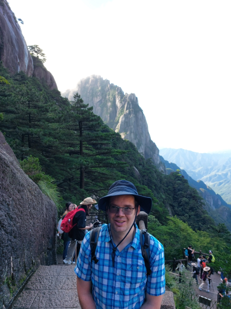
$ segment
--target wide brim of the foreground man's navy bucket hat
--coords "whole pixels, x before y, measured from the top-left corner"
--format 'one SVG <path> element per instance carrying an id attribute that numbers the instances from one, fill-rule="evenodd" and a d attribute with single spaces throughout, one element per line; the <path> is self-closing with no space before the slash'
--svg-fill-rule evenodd
<path id="1" fill-rule="evenodd" d="M 133 195 L 137 198 L 137 201 L 139 202 L 140 205 L 140 211 L 146 212 L 146 214 L 149 214 L 151 209 L 152 209 L 152 199 L 151 197 L 146 197 L 134 193 L 129 193 L 128 191 L 117 191 L 111 194 L 108 194 L 104 197 L 101 197 L 98 202 L 98 207 L 100 210 L 106 211 L 106 205 L 107 205 L 107 200 L 109 197 L 112 196 L 118 196 L 118 195 Z"/>

